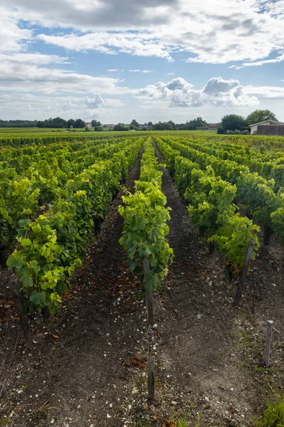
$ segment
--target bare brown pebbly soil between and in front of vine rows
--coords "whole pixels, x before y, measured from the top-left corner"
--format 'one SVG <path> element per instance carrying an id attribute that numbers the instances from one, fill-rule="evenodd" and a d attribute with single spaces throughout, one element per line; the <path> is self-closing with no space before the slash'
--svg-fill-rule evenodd
<path id="1" fill-rule="evenodd" d="M 140 162 L 126 189 L 133 189 Z M 175 260 L 154 295 L 148 334 L 138 278 L 119 245 L 123 219 L 114 199 L 84 267 L 72 277 L 62 310 L 44 327 L 31 317 L 33 352 L 0 273 L 0 426 L 252 426 L 283 386 L 283 246 L 271 239 L 251 265 L 239 309 L 224 259 L 190 224 L 173 180 L 163 171 L 172 209 Z M 266 321 L 275 322 L 271 369 L 263 369 Z M 155 401 L 147 401 L 148 340 L 155 360 Z M 197 421 L 199 420 L 199 424 Z"/>

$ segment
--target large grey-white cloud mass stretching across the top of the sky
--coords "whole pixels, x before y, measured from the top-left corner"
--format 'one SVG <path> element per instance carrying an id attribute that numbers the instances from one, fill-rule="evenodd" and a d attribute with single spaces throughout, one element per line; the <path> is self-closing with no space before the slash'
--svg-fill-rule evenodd
<path id="1" fill-rule="evenodd" d="M 124 52 L 166 60 L 173 60 L 173 52 L 184 52 L 188 62 L 195 63 L 256 62 L 283 51 L 283 0 L 195 4 L 188 0 L 1 0 L 1 4 L 13 25 L 24 19 L 67 28 L 64 36 L 38 37 L 74 51 Z"/>

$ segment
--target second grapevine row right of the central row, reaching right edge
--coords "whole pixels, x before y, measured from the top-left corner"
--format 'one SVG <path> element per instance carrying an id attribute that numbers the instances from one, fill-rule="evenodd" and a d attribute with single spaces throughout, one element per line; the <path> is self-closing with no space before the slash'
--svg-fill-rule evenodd
<path id="1" fill-rule="evenodd" d="M 251 212 L 253 218 L 265 227 L 265 244 L 269 243 L 269 236 L 275 231 L 276 236 L 283 241 L 284 229 L 284 198 L 283 187 L 278 193 L 273 191 L 275 181 L 266 180 L 257 172 L 250 172 L 249 168 L 234 161 L 223 160 L 182 144 L 175 139 L 162 138 L 164 142 L 183 157 L 190 159 L 205 170 L 211 166 L 216 175 L 219 175 L 230 184 L 236 185 L 236 202 Z"/>

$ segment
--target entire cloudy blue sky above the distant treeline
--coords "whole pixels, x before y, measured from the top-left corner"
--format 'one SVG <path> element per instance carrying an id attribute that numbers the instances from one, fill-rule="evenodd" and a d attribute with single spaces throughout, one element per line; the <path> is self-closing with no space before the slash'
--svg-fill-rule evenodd
<path id="1" fill-rule="evenodd" d="M 284 0 L 1 0 L 0 119 L 284 122 Z"/>

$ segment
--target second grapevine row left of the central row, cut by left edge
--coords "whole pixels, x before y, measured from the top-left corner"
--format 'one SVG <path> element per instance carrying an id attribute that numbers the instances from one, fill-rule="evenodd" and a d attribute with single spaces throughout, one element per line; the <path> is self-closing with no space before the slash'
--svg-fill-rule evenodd
<path id="1" fill-rule="evenodd" d="M 0 248 L 13 248 L 18 233 L 18 221 L 38 216 L 46 210 L 70 179 L 76 179 L 84 169 L 99 159 L 109 159 L 116 152 L 131 145 L 132 139 L 124 142 L 95 144 L 84 149 L 70 151 L 64 146 L 56 152 L 43 153 L 43 158 L 26 155 L 18 157 L 15 167 L 0 172 Z M 26 159 L 25 159 L 26 157 Z M 16 159 L 15 159 L 16 160 Z M 13 163 L 13 166 L 16 166 Z"/>

